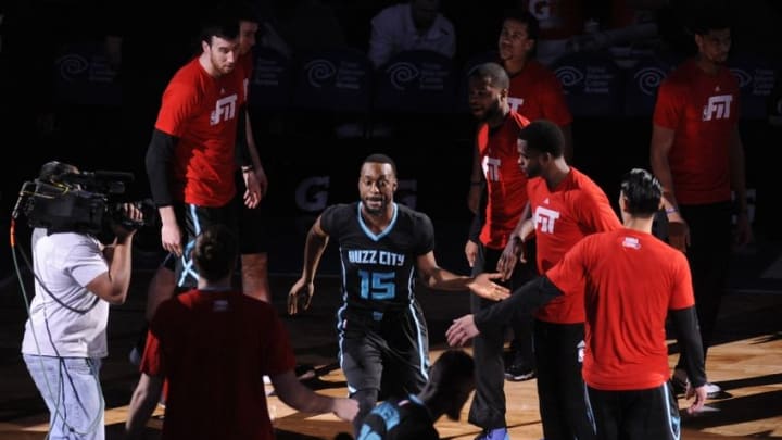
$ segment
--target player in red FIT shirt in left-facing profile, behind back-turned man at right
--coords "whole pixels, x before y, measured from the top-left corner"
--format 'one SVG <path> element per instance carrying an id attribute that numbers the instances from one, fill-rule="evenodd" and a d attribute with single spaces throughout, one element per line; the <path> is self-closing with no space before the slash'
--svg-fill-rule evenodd
<path id="1" fill-rule="evenodd" d="M 518 165 L 530 179 L 530 218 L 520 222 L 505 248 L 504 269 L 515 266 L 517 243 L 529 237 L 535 238 L 538 271 L 543 274 L 583 237 L 621 227 L 597 184 L 567 164 L 564 146 L 562 130 L 547 120 L 533 121 L 519 133 Z M 583 322 L 583 301 L 575 296 L 559 297 L 535 313 L 538 397 L 546 439 L 594 438 L 581 379 Z"/>

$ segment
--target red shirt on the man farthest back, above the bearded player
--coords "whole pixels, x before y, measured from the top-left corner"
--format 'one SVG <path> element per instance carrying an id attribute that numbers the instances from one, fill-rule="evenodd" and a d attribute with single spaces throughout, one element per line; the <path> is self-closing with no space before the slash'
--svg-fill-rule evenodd
<path id="1" fill-rule="evenodd" d="M 548 120 L 560 127 L 572 122 L 562 83 L 535 60 L 528 61 L 521 72 L 510 77 L 508 103 L 530 121 Z"/>

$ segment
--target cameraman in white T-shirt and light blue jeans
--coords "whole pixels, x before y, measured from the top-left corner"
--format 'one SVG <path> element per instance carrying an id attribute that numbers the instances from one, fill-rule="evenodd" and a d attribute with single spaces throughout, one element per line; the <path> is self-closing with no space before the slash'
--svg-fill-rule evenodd
<path id="1" fill-rule="evenodd" d="M 39 180 L 78 173 L 50 162 Z M 141 221 L 133 204 L 122 210 Z M 103 246 L 91 234 L 36 228 L 33 232 L 35 297 L 25 324 L 22 354 L 49 408 L 49 437 L 103 439 L 103 393 L 98 377 L 108 355 L 109 304 L 123 304 L 130 285 L 133 237 L 115 222 L 114 242 Z"/>

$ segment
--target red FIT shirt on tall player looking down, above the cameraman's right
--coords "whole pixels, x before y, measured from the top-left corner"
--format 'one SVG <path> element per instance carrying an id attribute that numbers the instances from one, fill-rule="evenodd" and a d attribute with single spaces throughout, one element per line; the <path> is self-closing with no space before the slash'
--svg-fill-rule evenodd
<path id="1" fill-rule="evenodd" d="M 234 198 L 237 121 L 243 104 L 241 68 L 214 78 L 194 58 L 168 83 L 155 128 L 179 139 L 172 162 L 176 200 L 215 208 Z"/>

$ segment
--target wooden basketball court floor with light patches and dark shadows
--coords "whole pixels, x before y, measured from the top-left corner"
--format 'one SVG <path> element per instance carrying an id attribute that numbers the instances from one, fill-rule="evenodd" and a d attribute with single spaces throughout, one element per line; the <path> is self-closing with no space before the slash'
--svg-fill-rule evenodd
<path id="1" fill-rule="evenodd" d="M 139 281 L 143 282 L 143 281 Z M 307 313 L 285 317 L 300 362 L 316 366 L 318 376 L 307 381 L 318 392 L 345 395 L 341 370 L 335 364 L 336 343 L 333 312 L 339 302 L 333 281 L 323 281 Z M 292 284 L 290 278 L 279 281 L 275 290 L 275 305 L 285 316 L 285 296 Z M 327 287 L 330 286 L 330 287 Z M 141 298 L 140 298 L 141 297 Z M 110 318 L 110 349 L 112 353 L 102 370 L 106 400 L 106 438 L 121 439 L 127 415 L 127 403 L 137 374 L 127 362 L 129 347 L 135 341 L 143 296 L 131 298 L 112 311 Z M 444 331 L 451 319 L 468 313 L 467 293 L 422 292 L 419 299 L 429 323 L 431 356 L 434 360 L 444 349 Z M 8 309 L 7 309 L 8 311 Z M 718 342 L 708 356 L 709 380 L 719 384 L 724 392 L 707 402 L 708 411 L 696 417 L 683 417 L 683 436 L 688 440 L 782 438 L 782 294 L 732 293 L 726 297 L 720 315 Z M 24 316 L 9 316 L 18 325 Z M 9 320 L 5 320 L 9 322 Z M 21 338 L 21 332 L 18 334 Z M 676 362 L 676 348 L 670 356 Z M 14 354 L 15 355 L 15 354 Z M 0 366 L 0 439 L 43 439 L 47 430 L 46 407 L 24 368 L 18 362 L 7 360 Z M 512 439 L 542 438 L 535 381 L 505 382 L 507 423 Z M 272 389 L 269 388 L 269 391 Z M 469 402 L 468 402 L 469 405 Z M 461 422 L 441 418 L 437 428 L 442 438 L 472 439 L 479 429 L 466 422 L 467 407 Z M 681 407 L 688 402 L 680 400 Z M 300 414 L 276 397 L 269 397 L 269 408 L 279 439 L 333 439 L 339 432 L 350 432 L 349 424 L 335 416 Z M 159 407 L 150 420 L 148 438 L 160 436 L 162 422 Z"/>

